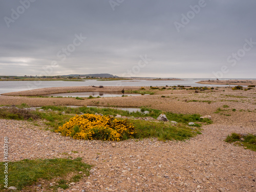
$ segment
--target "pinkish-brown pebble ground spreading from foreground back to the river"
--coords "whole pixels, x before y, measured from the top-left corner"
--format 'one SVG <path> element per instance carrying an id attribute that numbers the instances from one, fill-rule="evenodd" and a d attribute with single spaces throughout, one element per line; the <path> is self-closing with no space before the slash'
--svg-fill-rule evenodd
<path id="1" fill-rule="evenodd" d="M 77 88 L 78 91 L 92 91 L 90 89 L 94 88 Z M 114 91 L 120 88 L 101 89 Z M 42 93 L 45 90 L 37 91 Z M 48 91 L 61 90 L 52 88 Z M 230 88 L 219 88 L 198 94 L 193 90 L 155 92 L 157 95 L 85 100 L 0 96 L 0 104 L 150 106 L 173 113 L 211 115 L 214 124 L 203 126 L 202 135 L 186 142 L 127 140 L 112 147 L 112 142 L 62 137 L 45 131 L 43 123 L 35 126 L 26 121 L 0 119 L 1 142 L 3 144 L 3 137 L 9 137 L 9 158 L 12 161 L 72 156 L 82 157 L 84 162 L 94 165 L 89 178 L 85 177 L 65 191 L 256 191 L 256 153 L 223 141 L 232 132 L 256 134 L 254 89 L 232 91 Z M 223 105 L 229 107 L 223 108 Z M 216 114 L 218 108 L 227 111 Z M 42 186 L 43 182 L 40 181 Z M 29 191 L 34 189 L 42 191 L 36 187 Z"/>

